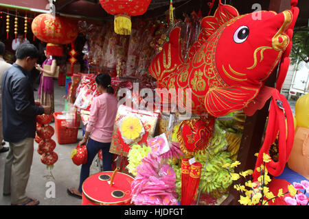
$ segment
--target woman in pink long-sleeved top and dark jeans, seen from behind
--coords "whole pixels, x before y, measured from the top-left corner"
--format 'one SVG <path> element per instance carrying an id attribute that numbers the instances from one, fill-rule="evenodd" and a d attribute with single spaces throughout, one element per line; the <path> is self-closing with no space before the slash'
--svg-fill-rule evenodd
<path id="1" fill-rule="evenodd" d="M 69 195 L 82 198 L 82 183 L 89 177 L 89 169 L 93 158 L 102 149 L 103 170 L 111 171 L 112 154 L 109 153 L 113 127 L 117 114 L 117 98 L 113 95 L 111 77 L 100 74 L 95 77 L 95 84 L 100 96 L 93 99 L 88 125 L 84 138 L 78 144 L 86 144 L 87 140 L 87 164 L 83 164 L 80 170 L 80 185 L 78 188 L 68 188 Z M 90 136 L 90 138 L 89 138 Z"/>

